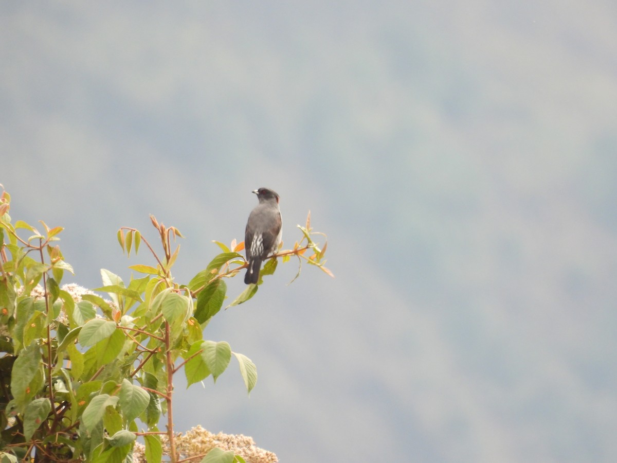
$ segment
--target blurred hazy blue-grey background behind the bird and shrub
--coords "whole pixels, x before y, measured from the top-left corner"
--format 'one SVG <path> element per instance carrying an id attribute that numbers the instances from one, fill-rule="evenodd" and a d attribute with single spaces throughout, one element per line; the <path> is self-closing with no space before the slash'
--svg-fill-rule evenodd
<path id="1" fill-rule="evenodd" d="M 154 242 L 148 214 L 188 282 L 251 190 L 288 246 L 311 209 L 336 278 L 290 262 L 218 315 L 259 381 L 180 382 L 179 430 L 286 463 L 617 461 L 614 1 L 1 1 L 0 183 L 89 287 L 153 263 L 115 236 Z"/>

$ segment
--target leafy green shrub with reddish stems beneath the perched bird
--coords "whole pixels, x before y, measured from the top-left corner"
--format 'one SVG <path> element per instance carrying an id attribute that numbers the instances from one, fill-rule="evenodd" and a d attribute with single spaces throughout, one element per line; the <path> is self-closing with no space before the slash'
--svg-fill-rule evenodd
<path id="1" fill-rule="evenodd" d="M 216 380 L 234 357 L 247 392 L 257 382 L 249 357 L 225 341 L 204 339 L 204 328 L 226 298 L 226 278 L 246 268 L 244 243 L 228 247 L 186 284 L 172 277 L 182 235 L 151 216 L 162 253 L 157 254 L 135 228 L 118 231 L 129 255 L 142 244 L 154 265 L 131 265 L 143 275 L 130 282 L 102 269 L 102 286 L 93 291 L 62 285 L 64 261 L 57 241 L 62 227 L 43 233 L 9 217 L 10 196 L 0 197 L 0 461 L 132 461 L 138 436 L 144 436 L 148 461 L 161 461 L 165 436 L 170 461 L 180 456 L 173 430 L 173 378 L 183 370 L 189 385 Z M 264 265 L 257 285 L 248 285 L 230 306 L 251 299 L 262 278 L 296 256 L 323 266 L 326 244 L 314 241 L 310 213 L 302 239 L 277 252 Z M 23 235 L 30 236 L 23 238 Z M 307 252 L 309 251 L 309 252 Z M 306 257 L 305 254 L 310 254 Z M 298 275 L 300 272 L 298 272 Z M 62 285 L 62 286 L 60 286 Z M 102 298 L 94 291 L 107 293 Z M 165 431 L 159 421 L 165 417 Z M 141 430 L 140 425 L 141 423 Z M 203 461 L 244 461 L 217 449 Z"/>

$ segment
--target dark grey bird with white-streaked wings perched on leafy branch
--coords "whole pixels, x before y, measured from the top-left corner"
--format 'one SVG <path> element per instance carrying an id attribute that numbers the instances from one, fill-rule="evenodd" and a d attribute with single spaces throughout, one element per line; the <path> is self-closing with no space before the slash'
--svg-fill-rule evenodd
<path id="1" fill-rule="evenodd" d="M 278 193 L 270 188 L 259 188 L 252 193 L 257 194 L 259 204 L 251 211 L 244 231 L 248 263 L 244 283 L 247 285 L 259 281 L 262 262 L 278 249 L 283 231 Z"/>

